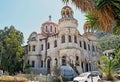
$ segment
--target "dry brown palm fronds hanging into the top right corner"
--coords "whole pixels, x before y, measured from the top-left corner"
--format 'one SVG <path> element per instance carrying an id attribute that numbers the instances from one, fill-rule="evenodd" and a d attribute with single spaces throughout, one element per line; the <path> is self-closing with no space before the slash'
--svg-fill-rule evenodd
<path id="1" fill-rule="evenodd" d="M 92 13 L 98 17 L 101 29 L 109 32 L 117 25 L 116 18 L 120 17 L 120 0 L 62 0 L 72 1 L 82 12 Z M 120 21 L 120 19 L 118 19 Z M 100 28 L 99 27 L 99 28 Z M 120 29 L 120 28 L 119 28 Z M 115 30 L 116 31 L 116 30 Z"/>

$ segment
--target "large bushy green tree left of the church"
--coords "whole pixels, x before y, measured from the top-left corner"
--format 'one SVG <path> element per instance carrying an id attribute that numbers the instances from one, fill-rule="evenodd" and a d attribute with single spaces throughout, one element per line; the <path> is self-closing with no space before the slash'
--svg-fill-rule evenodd
<path id="1" fill-rule="evenodd" d="M 5 27 L 0 31 L 0 42 L 2 44 L 0 67 L 10 74 L 22 70 L 23 33 L 16 30 L 14 26 Z"/>

